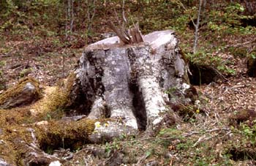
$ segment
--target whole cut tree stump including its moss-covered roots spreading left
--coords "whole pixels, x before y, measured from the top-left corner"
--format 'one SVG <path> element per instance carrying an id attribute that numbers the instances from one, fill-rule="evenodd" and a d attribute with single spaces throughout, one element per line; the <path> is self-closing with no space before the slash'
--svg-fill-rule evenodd
<path id="1" fill-rule="evenodd" d="M 140 37 L 131 39 L 138 43 L 123 45 L 118 37 L 111 37 L 89 45 L 75 75 L 70 74 L 63 87 L 46 88 L 42 99 L 19 111 L 0 110 L 0 150 L 4 151 L 0 165 L 69 165 L 73 156 L 69 153 L 64 158 L 66 150 L 138 131 L 154 136 L 162 125 L 175 124 L 179 120 L 175 107 L 186 107 L 195 101 L 196 93 L 189 90 L 178 39 L 170 30 L 147 34 L 143 42 Z M 27 86 L 30 84 L 20 82 L 1 94 L 4 102 L 0 107 L 9 98 L 24 94 L 20 91 Z M 40 90 L 37 83 L 35 87 Z M 27 116 L 62 109 L 69 117 L 22 124 L 29 120 Z M 47 154 L 50 150 L 59 151 L 58 155 Z M 10 155 L 5 151 L 11 151 Z"/>

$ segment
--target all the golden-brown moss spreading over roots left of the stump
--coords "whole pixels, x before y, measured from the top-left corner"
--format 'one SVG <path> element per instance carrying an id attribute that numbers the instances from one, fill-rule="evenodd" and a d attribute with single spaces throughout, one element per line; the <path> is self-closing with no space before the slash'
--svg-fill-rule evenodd
<path id="1" fill-rule="evenodd" d="M 10 97 L 17 97 L 26 83 L 32 82 L 39 94 L 42 95 L 39 83 L 33 78 L 20 80 L 18 86 L 8 89 L 1 95 L 1 102 Z M 26 107 L 16 107 L 9 110 L 0 110 L 0 157 L 13 165 L 23 165 L 24 155 L 28 145 L 33 142 L 29 128 L 35 129 L 35 135 L 42 150 L 53 151 L 59 148 L 76 150 L 89 142 L 89 135 L 94 131 L 94 120 L 81 119 L 80 121 L 56 121 L 64 116 L 63 109 L 70 102 L 69 94 L 75 82 L 75 73 L 71 73 L 57 87 L 45 88 L 45 97 Z M 33 114 L 39 113 L 39 114 Z M 36 125 L 34 122 L 44 120 L 45 125 Z"/>

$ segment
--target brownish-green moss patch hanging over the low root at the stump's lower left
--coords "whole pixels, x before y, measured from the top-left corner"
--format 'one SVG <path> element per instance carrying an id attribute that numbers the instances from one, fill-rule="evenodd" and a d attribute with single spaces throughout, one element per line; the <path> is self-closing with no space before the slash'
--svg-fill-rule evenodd
<path id="1" fill-rule="evenodd" d="M 89 135 L 94 131 L 94 120 L 80 121 L 50 121 L 44 127 L 37 127 L 36 135 L 40 148 L 49 149 L 70 148 L 75 150 L 89 142 Z"/>

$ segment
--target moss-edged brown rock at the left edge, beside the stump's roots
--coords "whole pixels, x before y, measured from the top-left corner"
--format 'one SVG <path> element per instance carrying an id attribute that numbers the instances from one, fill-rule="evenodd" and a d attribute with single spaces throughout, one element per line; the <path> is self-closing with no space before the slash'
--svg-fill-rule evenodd
<path id="1" fill-rule="evenodd" d="M 0 109 L 29 105 L 40 97 L 42 97 L 42 91 L 37 80 L 25 78 L 0 95 Z"/>

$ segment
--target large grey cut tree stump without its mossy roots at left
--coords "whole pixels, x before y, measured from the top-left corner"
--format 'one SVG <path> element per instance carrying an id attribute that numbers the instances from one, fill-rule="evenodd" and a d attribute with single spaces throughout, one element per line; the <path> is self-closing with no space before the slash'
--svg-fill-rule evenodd
<path id="1" fill-rule="evenodd" d="M 165 117 L 176 121 L 167 102 L 189 101 L 187 66 L 174 32 L 154 31 L 143 41 L 122 45 L 110 37 L 89 45 L 80 57 L 69 107 L 71 115 L 99 120 L 92 142 L 138 130 L 153 135 Z M 170 88 L 178 93 L 165 93 Z M 102 124 L 101 118 L 110 120 Z"/>

